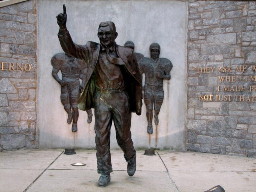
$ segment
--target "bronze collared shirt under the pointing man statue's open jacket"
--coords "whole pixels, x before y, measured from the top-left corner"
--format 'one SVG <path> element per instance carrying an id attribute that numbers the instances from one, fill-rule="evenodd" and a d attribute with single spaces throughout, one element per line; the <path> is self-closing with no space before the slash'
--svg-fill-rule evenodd
<path id="1" fill-rule="evenodd" d="M 96 77 L 96 87 L 99 89 L 123 89 L 125 87 L 120 65 L 110 63 L 109 56 L 117 58 L 116 43 L 109 50 L 100 48 L 99 58 L 94 70 Z"/>

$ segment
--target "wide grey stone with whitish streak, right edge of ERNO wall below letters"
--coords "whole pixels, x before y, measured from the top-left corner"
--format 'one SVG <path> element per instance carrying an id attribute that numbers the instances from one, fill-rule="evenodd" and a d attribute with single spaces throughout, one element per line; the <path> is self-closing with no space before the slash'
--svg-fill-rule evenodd
<path id="1" fill-rule="evenodd" d="M 9 107 L 14 111 L 35 111 L 35 101 L 10 101 Z"/>

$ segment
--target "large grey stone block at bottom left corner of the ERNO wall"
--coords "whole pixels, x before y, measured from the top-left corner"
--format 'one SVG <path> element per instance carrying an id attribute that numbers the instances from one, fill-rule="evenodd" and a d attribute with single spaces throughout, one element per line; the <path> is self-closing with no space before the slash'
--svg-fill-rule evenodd
<path id="1" fill-rule="evenodd" d="M 26 138 L 23 134 L 1 135 L 0 143 L 3 149 L 17 149 L 26 146 Z"/>

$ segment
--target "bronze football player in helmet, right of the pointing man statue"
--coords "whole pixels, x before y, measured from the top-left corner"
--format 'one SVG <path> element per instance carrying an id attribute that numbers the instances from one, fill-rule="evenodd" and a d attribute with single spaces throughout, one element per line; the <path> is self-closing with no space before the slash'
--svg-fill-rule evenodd
<path id="1" fill-rule="evenodd" d="M 166 58 L 159 58 L 160 45 L 152 43 L 149 47 L 150 58 L 144 57 L 139 60 L 140 72 L 145 73 L 145 85 L 143 99 L 147 109 L 149 134 L 153 133 L 153 106 L 155 103 L 155 124 L 158 125 L 158 114 L 164 99 L 163 80 L 170 80 L 172 63 Z"/>

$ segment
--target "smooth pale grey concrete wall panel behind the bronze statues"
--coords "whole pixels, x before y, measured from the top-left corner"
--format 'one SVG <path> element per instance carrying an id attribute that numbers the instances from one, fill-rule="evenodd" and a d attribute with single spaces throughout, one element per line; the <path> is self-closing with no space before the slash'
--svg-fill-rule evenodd
<path id="1" fill-rule="evenodd" d="M 135 43 L 135 51 L 146 57 L 149 46 L 161 46 L 160 57 L 171 60 L 171 80 L 164 81 L 164 102 L 159 125 L 154 133 L 147 133 L 145 105 L 142 115 L 132 115 L 132 139 L 136 148 L 186 148 L 186 40 L 187 1 L 50 1 L 37 0 L 37 147 L 38 148 L 94 148 L 94 117 L 87 123 L 85 111 L 79 111 L 78 131 L 71 132 L 67 114 L 60 102 L 60 86 L 51 76 L 51 57 L 63 52 L 57 37 L 56 15 L 67 8 L 67 28 L 77 44 L 98 41 L 98 25 L 102 21 L 116 24 L 116 42 Z M 94 113 L 94 111 L 93 111 Z M 118 148 L 114 126 L 111 129 L 111 148 Z"/>

